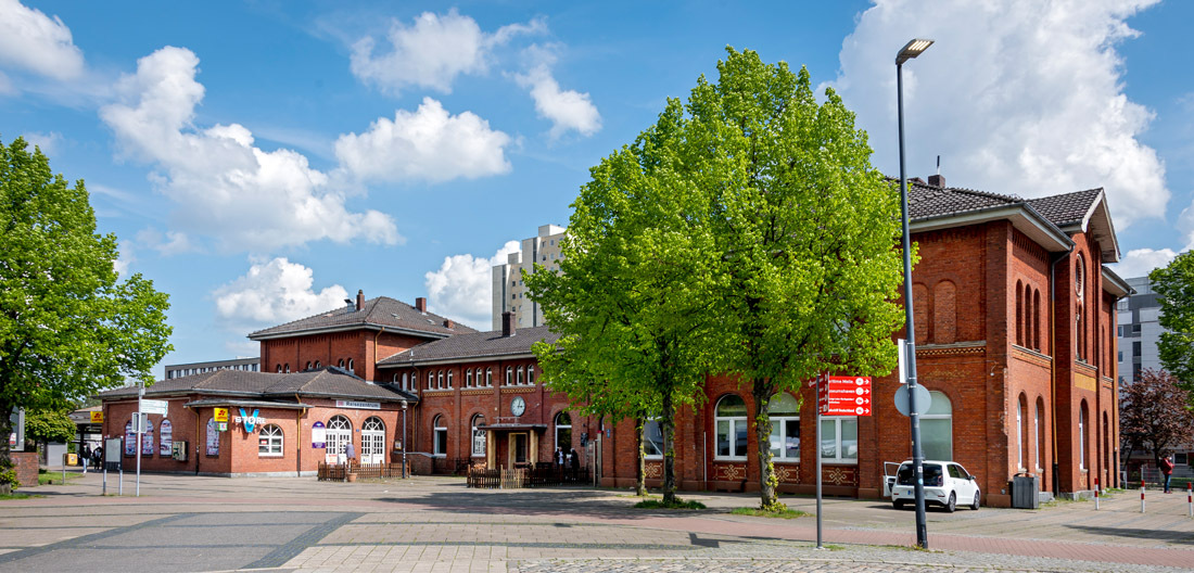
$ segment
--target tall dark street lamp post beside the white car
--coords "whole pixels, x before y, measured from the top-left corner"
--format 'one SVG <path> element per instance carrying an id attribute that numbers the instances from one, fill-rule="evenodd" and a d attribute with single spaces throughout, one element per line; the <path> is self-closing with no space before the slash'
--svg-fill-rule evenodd
<path id="1" fill-rule="evenodd" d="M 916 332 L 912 320 L 912 240 L 907 230 L 907 177 L 904 171 L 904 62 L 919 56 L 933 45 L 931 39 L 913 39 L 896 55 L 896 101 L 899 116 L 899 201 L 904 226 L 904 322 L 907 333 L 907 409 L 912 420 L 912 480 L 916 492 L 916 544 L 929 548 L 929 529 L 924 516 L 924 454 L 921 451 L 921 415 L 916 412 Z"/>

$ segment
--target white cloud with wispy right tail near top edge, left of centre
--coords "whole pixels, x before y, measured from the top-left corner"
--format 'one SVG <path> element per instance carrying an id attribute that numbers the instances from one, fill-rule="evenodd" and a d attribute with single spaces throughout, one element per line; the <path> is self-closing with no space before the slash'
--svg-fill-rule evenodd
<path id="1" fill-rule="evenodd" d="M 424 12 L 411 26 L 394 20 L 387 41 L 389 50 L 374 54 L 376 42 L 364 37 L 352 45 L 352 74 L 389 93 L 408 86 L 451 92 L 451 82 L 461 74 L 481 74 L 488 69 L 491 53 L 512 37 L 537 33 L 547 29 L 541 19 L 511 24 L 485 33 L 476 20 L 455 8 L 444 16 Z"/>

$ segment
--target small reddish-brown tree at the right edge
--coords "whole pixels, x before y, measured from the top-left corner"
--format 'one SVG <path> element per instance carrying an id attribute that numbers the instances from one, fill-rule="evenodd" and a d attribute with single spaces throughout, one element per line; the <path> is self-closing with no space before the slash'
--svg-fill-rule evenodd
<path id="1" fill-rule="evenodd" d="M 1161 458 L 1194 438 L 1194 413 L 1178 380 L 1165 370 L 1145 369 L 1140 380 L 1120 387 L 1120 435 L 1128 452 L 1151 451 Z"/>

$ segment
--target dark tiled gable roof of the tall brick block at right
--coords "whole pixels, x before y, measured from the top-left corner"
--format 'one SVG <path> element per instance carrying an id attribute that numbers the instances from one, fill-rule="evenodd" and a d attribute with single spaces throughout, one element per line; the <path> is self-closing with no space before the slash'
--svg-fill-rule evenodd
<path id="1" fill-rule="evenodd" d="M 907 181 L 909 227 L 912 232 L 1009 220 L 1050 252 L 1073 247 L 1070 235 L 1091 233 L 1102 245 L 1103 263 L 1119 260 L 1119 242 L 1102 189 L 1024 199 L 960 187 L 938 187 L 919 179 Z"/>

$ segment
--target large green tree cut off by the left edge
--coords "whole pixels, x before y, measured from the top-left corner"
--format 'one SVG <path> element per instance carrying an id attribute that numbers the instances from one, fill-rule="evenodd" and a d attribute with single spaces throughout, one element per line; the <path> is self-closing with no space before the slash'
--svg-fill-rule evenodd
<path id="1" fill-rule="evenodd" d="M 10 414 L 57 408 L 125 378 L 153 383 L 172 350 L 168 297 L 118 282 L 115 235 L 96 232 L 82 181 L 72 187 L 24 140 L 0 143 L 0 435 Z M 11 467 L 0 440 L 0 472 Z"/>

